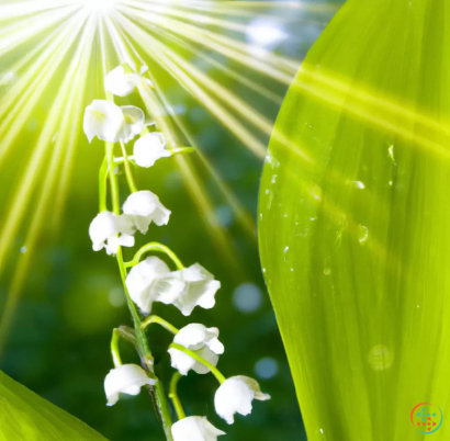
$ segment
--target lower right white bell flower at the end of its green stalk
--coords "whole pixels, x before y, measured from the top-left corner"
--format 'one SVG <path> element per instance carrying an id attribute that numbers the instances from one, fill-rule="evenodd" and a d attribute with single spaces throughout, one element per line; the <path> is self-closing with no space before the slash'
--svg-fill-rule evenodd
<path id="1" fill-rule="evenodd" d="M 214 397 L 215 411 L 228 425 L 234 422 L 234 415 L 249 415 L 251 402 L 270 399 L 270 395 L 263 394 L 256 380 L 248 376 L 232 376 L 217 389 Z"/>

